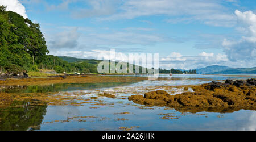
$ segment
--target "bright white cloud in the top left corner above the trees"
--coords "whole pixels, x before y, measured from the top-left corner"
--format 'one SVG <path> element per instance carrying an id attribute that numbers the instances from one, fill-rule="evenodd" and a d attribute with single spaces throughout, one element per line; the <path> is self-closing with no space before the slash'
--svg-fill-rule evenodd
<path id="1" fill-rule="evenodd" d="M 25 7 L 18 0 L 1 0 L 0 5 L 7 6 L 7 11 L 14 11 L 22 15 L 23 18 L 28 18 Z"/>

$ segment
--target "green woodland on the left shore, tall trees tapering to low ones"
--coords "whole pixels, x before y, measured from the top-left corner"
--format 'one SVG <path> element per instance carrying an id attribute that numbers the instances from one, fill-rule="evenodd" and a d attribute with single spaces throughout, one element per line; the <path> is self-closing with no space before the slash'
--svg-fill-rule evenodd
<path id="1" fill-rule="evenodd" d="M 0 6 L 0 51 L 0 72 L 18 74 L 38 69 L 55 69 L 59 73 L 97 72 L 96 66 L 88 62 L 69 63 L 48 55 L 39 24 L 6 11 L 5 6 Z"/>

